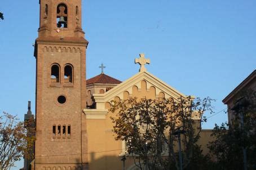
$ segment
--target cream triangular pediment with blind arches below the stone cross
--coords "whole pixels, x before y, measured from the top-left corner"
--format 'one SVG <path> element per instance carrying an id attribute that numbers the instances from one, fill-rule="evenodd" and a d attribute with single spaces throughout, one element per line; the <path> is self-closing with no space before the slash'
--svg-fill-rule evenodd
<path id="1" fill-rule="evenodd" d="M 143 90 L 143 88 L 146 89 Z M 145 96 L 147 96 L 147 92 L 155 89 L 156 98 L 158 98 L 159 95 L 164 95 L 166 99 L 171 97 L 174 100 L 178 100 L 178 98 L 181 96 L 186 97 L 186 95 L 175 90 L 175 88 L 169 86 L 167 83 L 163 82 L 161 79 L 155 77 L 153 74 L 147 71 L 142 71 L 135 74 L 133 77 L 125 80 L 121 84 L 118 84 L 108 92 L 103 94 L 94 94 L 93 96 L 96 103 L 109 102 L 115 97 L 119 97 L 121 100 L 123 100 L 125 98 L 123 95 L 124 92 L 126 92 L 126 94 L 128 94 L 130 97 L 134 97 L 134 89 L 137 89 L 138 92 L 140 92 L 140 96 L 143 96 L 143 92 L 145 93 Z"/>

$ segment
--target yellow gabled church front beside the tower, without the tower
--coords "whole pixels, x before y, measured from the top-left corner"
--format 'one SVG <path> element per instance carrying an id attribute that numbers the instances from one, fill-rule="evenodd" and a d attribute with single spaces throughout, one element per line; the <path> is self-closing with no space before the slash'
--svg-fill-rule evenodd
<path id="1" fill-rule="evenodd" d="M 140 70 L 133 77 L 105 93 L 101 93 L 103 88 L 98 91 L 95 90 L 92 94 L 94 99 L 92 102 L 95 102 L 94 108 L 83 109 L 88 137 L 87 146 L 89 154 L 87 156 L 89 169 L 122 169 L 121 158 L 123 155 L 126 155 L 126 148 L 125 142 L 114 140 L 113 123 L 111 120 L 111 117 L 114 117 L 114 113 L 108 111 L 111 108 L 112 100 L 126 100 L 129 97 L 137 97 L 138 99 L 146 97 L 152 100 L 165 97 L 178 100 L 180 96 L 186 97 L 151 73 L 145 71 L 145 69 Z M 108 84 L 111 84 L 111 81 Z M 98 85 L 98 83 L 95 83 L 95 85 Z M 91 93 L 90 89 L 87 89 L 87 91 L 89 94 Z M 167 150 L 164 152 L 162 153 L 163 155 L 167 154 Z M 134 160 L 129 158 L 129 156 L 126 158 L 126 169 L 136 169 Z"/>

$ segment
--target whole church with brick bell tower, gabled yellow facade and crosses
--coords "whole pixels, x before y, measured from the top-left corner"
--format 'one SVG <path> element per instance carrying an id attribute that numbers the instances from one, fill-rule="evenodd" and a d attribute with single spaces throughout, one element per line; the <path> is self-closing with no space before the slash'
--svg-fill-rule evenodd
<path id="1" fill-rule="evenodd" d="M 32 169 L 122 169 L 125 143 L 114 140 L 112 100 L 178 100 L 175 90 L 145 69 L 121 82 L 101 74 L 86 80 L 81 0 L 41 0 L 36 57 L 36 143 Z M 102 66 L 103 67 L 103 66 Z M 199 118 L 195 117 L 195 120 Z M 136 169 L 131 158 L 126 169 Z M 28 167 L 24 167 L 28 169 Z"/>

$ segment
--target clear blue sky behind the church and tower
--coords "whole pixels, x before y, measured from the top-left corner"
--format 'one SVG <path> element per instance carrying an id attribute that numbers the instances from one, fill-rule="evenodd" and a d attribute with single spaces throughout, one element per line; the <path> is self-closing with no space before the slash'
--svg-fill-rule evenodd
<path id="1" fill-rule="evenodd" d="M 1 0 L 0 11 L 0 113 L 23 120 L 28 101 L 35 110 L 39 4 Z M 124 81 L 145 53 L 147 70 L 171 87 L 216 100 L 218 114 L 206 114 L 206 129 L 227 121 L 222 100 L 256 68 L 255 0 L 87 0 L 82 17 L 87 79 L 100 74 L 102 62 L 105 74 Z"/>

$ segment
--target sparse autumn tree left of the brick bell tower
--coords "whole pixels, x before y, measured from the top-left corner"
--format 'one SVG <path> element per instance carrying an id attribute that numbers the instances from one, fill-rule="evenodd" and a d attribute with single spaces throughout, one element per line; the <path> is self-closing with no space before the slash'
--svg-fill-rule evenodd
<path id="1" fill-rule="evenodd" d="M 17 116 L 3 112 L 1 119 L 1 164 L 2 169 L 10 169 L 14 163 L 25 158 L 33 158 L 34 136 L 29 136 L 28 132 L 34 129 L 28 120 L 19 122 Z"/>

